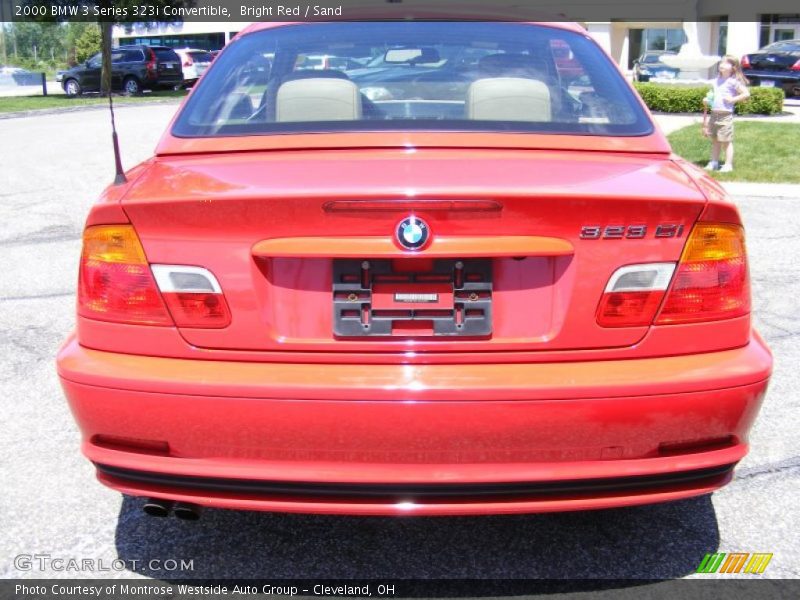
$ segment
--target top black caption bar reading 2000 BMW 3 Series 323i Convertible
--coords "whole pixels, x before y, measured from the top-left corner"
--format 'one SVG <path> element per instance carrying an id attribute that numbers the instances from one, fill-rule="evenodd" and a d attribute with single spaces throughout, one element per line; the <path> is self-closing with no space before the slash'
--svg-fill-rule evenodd
<path id="1" fill-rule="evenodd" d="M 796 0 L 0 0 L 0 21 L 800 21 Z"/>

